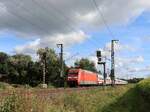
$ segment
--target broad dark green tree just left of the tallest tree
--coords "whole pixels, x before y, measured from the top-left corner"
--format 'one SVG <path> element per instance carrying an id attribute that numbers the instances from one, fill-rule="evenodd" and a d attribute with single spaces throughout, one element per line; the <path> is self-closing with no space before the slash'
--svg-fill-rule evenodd
<path id="1" fill-rule="evenodd" d="M 16 54 L 8 59 L 8 76 L 12 83 L 27 83 L 28 64 L 32 62 L 29 55 Z"/>

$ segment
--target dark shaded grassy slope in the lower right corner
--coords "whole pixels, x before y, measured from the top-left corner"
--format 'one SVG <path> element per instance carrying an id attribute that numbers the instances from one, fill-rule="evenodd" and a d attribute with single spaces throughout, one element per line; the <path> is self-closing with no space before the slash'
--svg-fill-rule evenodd
<path id="1" fill-rule="evenodd" d="M 102 112 L 150 112 L 150 79 L 139 82 Z"/>

